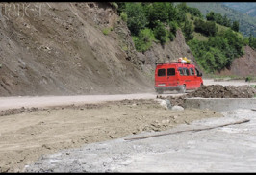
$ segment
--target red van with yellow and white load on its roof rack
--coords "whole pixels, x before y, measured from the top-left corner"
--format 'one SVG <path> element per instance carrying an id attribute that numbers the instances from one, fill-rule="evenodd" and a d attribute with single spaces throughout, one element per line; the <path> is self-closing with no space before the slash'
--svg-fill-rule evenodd
<path id="1" fill-rule="evenodd" d="M 202 73 L 192 63 L 156 63 L 155 89 L 162 94 L 167 90 L 185 93 L 203 85 Z"/>

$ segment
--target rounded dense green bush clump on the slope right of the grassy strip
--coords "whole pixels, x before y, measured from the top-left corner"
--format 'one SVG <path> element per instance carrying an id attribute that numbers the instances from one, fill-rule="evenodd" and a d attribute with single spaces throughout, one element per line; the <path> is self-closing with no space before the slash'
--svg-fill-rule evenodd
<path id="1" fill-rule="evenodd" d="M 188 44 L 197 63 L 208 73 L 230 67 L 235 58 L 243 55 L 243 38 L 231 29 L 208 41 L 192 39 Z"/>

